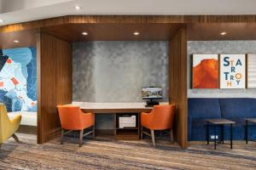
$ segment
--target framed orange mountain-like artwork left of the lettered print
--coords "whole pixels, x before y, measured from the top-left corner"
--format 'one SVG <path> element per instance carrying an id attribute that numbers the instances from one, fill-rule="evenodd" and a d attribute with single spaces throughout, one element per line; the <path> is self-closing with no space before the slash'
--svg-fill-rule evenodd
<path id="1" fill-rule="evenodd" d="M 193 88 L 218 88 L 218 54 L 193 55 Z"/>

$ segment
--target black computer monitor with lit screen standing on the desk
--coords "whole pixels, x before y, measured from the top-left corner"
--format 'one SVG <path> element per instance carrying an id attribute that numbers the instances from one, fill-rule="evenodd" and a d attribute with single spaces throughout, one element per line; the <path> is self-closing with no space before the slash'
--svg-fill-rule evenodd
<path id="1" fill-rule="evenodd" d="M 154 99 L 162 99 L 163 98 L 163 90 L 160 87 L 145 87 L 142 90 L 143 99 L 149 99 L 147 101 L 147 105 L 152 107 L 154 105 L 159 105 L 158 101 L 154 101 Z"/>

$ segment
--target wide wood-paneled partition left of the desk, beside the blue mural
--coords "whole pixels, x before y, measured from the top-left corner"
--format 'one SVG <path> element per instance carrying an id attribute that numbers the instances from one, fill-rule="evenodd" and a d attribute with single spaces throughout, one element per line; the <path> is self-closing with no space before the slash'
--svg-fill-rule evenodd
<path id="1" fill-rule="evenodd" d="M 60 133 L 56 105 L 72 102 L 72 45 L 38 34 L 38 144 Z"/>

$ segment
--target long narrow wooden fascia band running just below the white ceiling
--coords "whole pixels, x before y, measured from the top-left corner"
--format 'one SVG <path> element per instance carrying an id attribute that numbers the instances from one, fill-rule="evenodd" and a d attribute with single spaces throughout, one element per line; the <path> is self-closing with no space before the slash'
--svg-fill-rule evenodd
<path id="1" fill-rule="evenodd" d="M 149 23 L 256 23 L 256 14 L 247 15 L 67 15 L 0 26 L 1 32 L 22 31 L 64 24 L 149 24 Z"/>

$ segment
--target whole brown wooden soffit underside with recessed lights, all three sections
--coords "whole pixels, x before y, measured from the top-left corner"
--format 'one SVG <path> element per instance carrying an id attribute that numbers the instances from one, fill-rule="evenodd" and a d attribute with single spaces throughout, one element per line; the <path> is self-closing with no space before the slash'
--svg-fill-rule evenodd
<path id="1" fill-rule="evenodd" d="M 79 41 L 169 41 L 183 24 L 67 24 L 41 29 L 69 42 Z M 256 40 L 256 23 L 189 24 L 189 41 Z M 39 30 L 0 33 L 0 48 L 32 47 Z M 88 35 L 83 36 L 86 31 Z M 135 36 L 137 31 L 140 34 Z M 221 32 L 227 34 L 221 36 Z M 19 40 L 19 43 L 15 43 Z"/>

